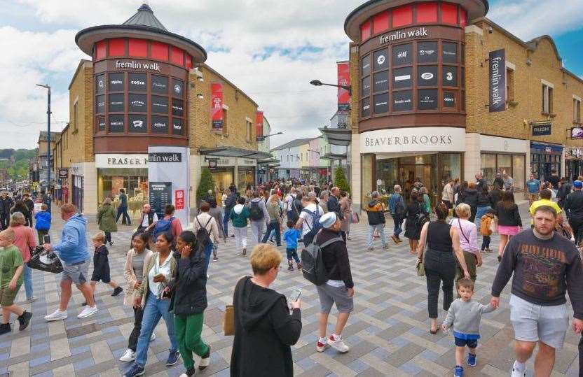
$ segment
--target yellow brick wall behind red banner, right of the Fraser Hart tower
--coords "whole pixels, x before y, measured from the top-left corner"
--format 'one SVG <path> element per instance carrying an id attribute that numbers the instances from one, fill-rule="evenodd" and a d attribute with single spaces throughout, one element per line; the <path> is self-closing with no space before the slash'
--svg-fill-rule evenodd
<path id="1" fill-rule="evenodd" d="M 257 104 L 249 99 L 240 89 L 222 78 L 208 66 L 199 66 L 204 82 L 197 80 L 191 73 L 189 82 L 188 123 L 190 125 L 191 152 L 198 148 L 215 148 L 228 145 L 237 148 L 257 150 L 255 141 L 255 115 Z M 211 84 L 223 83 L 223 103 L 228 106 L 226 134 L 212 131 L 211 118 Z M 203 94 L 204 99 L 198 99 L 197 94 Z M 247 142 L 247 118 L 251 120 L 251 137 Z"/>

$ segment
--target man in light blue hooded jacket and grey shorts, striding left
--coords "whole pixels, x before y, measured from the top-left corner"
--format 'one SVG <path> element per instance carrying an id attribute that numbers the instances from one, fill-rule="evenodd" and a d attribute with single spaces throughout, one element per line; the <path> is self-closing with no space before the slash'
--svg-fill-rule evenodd
<path id="1" fill-rule="evenodd" d="M 59 308 L 52 314 L 45 315 L 45 320 L 55 321 L 67 318 L 67 305 L 71 299 L 71 285 L 75 283 L 83 293 L 87 306 L 77 315 L 77 318 L 86 318 L 97 313 L 97 305 L 93 300 L 93 290 L 89 285 L 88 269 L 90 256 L 87 250 L 87 219 L 77 213 L 73 204 L 63 204 L 61 218 L 65 222 L 61 234 L 61 241 L 53 246 L 45 243 L 46 251 L 54 250 L 63 264 L 61 276 L 61 301 Z"/>

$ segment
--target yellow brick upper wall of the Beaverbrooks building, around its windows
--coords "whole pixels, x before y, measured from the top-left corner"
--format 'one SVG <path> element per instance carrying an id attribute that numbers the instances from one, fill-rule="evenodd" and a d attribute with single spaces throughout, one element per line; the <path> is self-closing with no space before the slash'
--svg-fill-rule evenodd
<path id="1" fill-rule="evenodd" d="M 465 43 L 466 61 L 466 111 L 467 132 L 478 132 L 495 136 L 531 139 L 568 145 L 583 145 L 583 141 L 567 141 L 566 129 L 572 127 L 572 96 L 583 97 L 583 83 L 561 71 L 553 45 L 542 38 L 534 51 L 492 24 L 488 33 L 485 20 L 475 24 L 482 34 L 467 32 Z M 469 28 L 471 29 L 471 27 Z M 469 29 L 467 31 L 469 31 Z M 506 111 L 490 113 L 488 107 L 488 52 L 505 48 L 507 62 L 516 66 L 514 71 L 514 101 L 516 106 L 507 106 Z M 527 64 L 530 58 L 532 64 Z M 542 83 L 547 80 L 554 85 L 553 110 L 555 118 L 542 114 Z M 551 120 L 550 136 L 530 136 L 530 122 Z M 526 124 L 525 124 L 526 121 Z"/>

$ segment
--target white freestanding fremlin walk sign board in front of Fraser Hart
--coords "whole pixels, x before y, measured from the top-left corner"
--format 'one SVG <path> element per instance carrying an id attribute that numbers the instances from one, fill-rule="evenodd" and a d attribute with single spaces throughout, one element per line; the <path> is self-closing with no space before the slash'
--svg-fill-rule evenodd
<path id="1" fill-rule="evenodd" d="M 188 147 L 148 147 L 148 181 L 150 203 L 165 206 L 171 202 L 176 207 L 174 216 L 180 219 L 182 227 L 188 227 L 191 182 Z M 171 183 L 170 187 L 167 183 Z M 158 208 L 153 209 L 158 212 Z"/>

